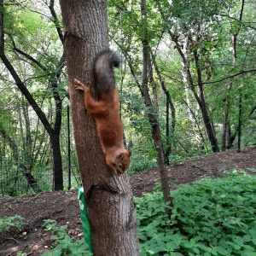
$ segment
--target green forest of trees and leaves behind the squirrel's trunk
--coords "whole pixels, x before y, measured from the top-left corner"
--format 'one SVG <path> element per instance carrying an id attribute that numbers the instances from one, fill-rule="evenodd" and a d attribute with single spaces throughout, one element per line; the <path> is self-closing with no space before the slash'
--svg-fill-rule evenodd
<path id="1" fill-rule="evenodd" d="M 255 6 L 108 1 L 130 173 L 157 166 L 155 124 L 166 164 L 255 145 Z M 2 0 L 0 10 L 1 195 L 77 188 L 59 3 Z"/>

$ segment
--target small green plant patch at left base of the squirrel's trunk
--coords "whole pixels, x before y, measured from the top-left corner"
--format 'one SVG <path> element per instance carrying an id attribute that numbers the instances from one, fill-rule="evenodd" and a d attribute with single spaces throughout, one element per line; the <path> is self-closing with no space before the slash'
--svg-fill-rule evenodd
<path id="1" fill-rule="evenodd" d="M 54 248 L 50 252 L 44 252 L 41 254 L 42 256 L 91 255 L 88 251 L 88 247 L 84 241 L 84 238 L 75 241 L 74 238 L 68 236 L 66 231 L 67 225 L 61 226 L 59 228 L 56 226 L 55 220 L 44 219 L 44 226 L 44 230 L 48 230 L 54 234 L 54 236 L 50 237 L 50 239 L 54 241 Z"/>

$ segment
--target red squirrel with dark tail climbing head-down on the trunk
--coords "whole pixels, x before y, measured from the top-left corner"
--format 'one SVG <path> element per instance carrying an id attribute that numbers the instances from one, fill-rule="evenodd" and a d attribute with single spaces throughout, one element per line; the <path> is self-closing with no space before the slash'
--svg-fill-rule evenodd
<path id="1" fill-rule="evenodd" d="M 113 67 L 119 67 L 119 57 L 110 49 L 96 55 L 93 77 L 98 101 L 90 94 L 90 88 L 74 79 L 76 90 L 84 91 L 84 107 L 96 120 L 96 129 L 106 164 L 117 176 L 130 165 L 131 151 L 125 149 L 123 126 L 119 118 L 119 93 L 115 85 Z"/>

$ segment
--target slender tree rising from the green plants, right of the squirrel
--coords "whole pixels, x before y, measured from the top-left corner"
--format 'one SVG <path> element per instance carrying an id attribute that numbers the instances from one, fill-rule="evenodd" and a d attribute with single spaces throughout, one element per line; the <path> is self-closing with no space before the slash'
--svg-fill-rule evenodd
<path id="1" fill-rule="evenodd" d="M 160 79 L 161 89 L 166 92 L 166 87 L 161 79 L 160 72 L 158 70 L 158 67 L 156 65 L 155 56 L 153 54 L 153 49 L 151 48 L 150 39 L 152 39 L 152 35 L 150 35 L 150 27 L 148 25 L 148 13 L 147 13 L 147 3 L 146 1 L 141 1 L 140 3 L 140 16 L 141 21 L 139 20 L 139 16 L 135 13 L 133 13 L 132 7 L 123 4 L 116 4 L 116 2 L 113 2 L 112 5 L 114 6 L 114 9 L 116 9 L 114 15 L 119 15 L 119 13 L 122 14 L 122 12 L 125 12 L 127 15 L 127 20 L 125 22 L 129 23 L 129 31 L 125 30 L 125 37 L 119 38 L 118 35 L 116 35 L 115 30 L 112 29 L 111 35 L 116 44 L 118 44 L 119 49 L 121 49 L 122 53 L 125 55 L 125 59 L 128 63 L 128 66 L 130 67 L 131 75 L 133 79 L 135 80 L 135 83 L 137 84 L 137 87 L 141 93 L 141 96 L 143 98 L 144 102 L 144 108 L 145 113 L 147 113 L 148 122 L 150 124 L 151 129 L 151 135 L 154 142 L 154 149 L 156 152 L 156 159 L 157 159 L 157 165 L 158 170 L 160 173 L 160 183 L 162 186 L 162 191 L 164 195 L 164 199 L 166 202 L 172 202 L 171 196 L 170 196 L 170 187 L 168 183 L 168 176 L 166 172 L 166 166 L 165 166 L 165 155 L 163 150 L 163 145 L 161 143 L 161 133 L 160 133 L 160 121 L 159 121 L 159 112 L 158 112 L 158 96 L 157 96 L 157 90 L 156 90 L 156 83 L 154 82 L 154 73 L 153 73 L 153 67 L 157 71 L 158 79 Z M 130 10 L 131 9 L 131 10 Z M 119 20 L 119 17 L 117 17 L 116 20 Z M 125 24 L 126 25 L 126 24 Z M 133 26 L 135 28 L 135 33 L 130 33 L 130 27 Z M 136 40 L 138 40 L 142 45 L 141 47 L 137 47 L 136 51 L 139 52 L 139 50 L 142 51 L 143 55 L 143 66 L 137 67 L 136 61 L 133 61 L 132 56 L 132 50 L 131 50 L 131 41 L 132 38 L 136 35 Z M 142 73 L 139 73 L 140 68 L 142 69 Z M 140 77 L 142 77 L 142 82 L 140 82 Z M 153 96 L 150 96 L 150 89 L 148 84 L 152 85 L 152 91 Z M 153 99 L 153 100 L 152 100 Z M 170 98 L 168 99 L 169 102 Z M 173 111 L 174 107 L 171 104 L 172 109 L 172 118 L 175 119 L 175 113 Z M 172 121 L 173 121 L 172 119 Z M 172 127 L 174 129 L 174 123 L 172 122 Z M 174 130 L 173 130 L 174 131 Z M 170 214 L 168 208 L 166 208 L 166 212 Z"/>

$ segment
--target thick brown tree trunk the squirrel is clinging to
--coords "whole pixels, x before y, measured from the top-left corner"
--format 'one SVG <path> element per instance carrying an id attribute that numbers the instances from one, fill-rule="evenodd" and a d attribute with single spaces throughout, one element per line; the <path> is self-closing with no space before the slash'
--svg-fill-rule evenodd
<path id="1" fill-rule="evenodd" d="M 60 0 L 60 3 L 73 130 L 93 254 L 136 256 L 139 254 L 136 211 L 128 173 L 113 176 L 105 165 L 95 121 L 84 112 L 83 94 L 73 84 L 73 79 L 79 79 L 96 96 L 92 62 L 99 51 L 108 48 L 107 4 L 102 0 Z"/>

